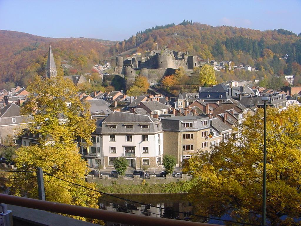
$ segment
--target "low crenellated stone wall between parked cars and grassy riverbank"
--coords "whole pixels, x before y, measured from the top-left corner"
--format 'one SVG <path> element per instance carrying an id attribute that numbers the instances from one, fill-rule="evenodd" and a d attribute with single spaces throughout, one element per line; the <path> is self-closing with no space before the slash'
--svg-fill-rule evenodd
<path id="1" fill-rule="evenodd" d="M 182 174 L 182 177 L 173 177 L 172 175 L 166 175 L 166 177 L 156 177 L 156 175 L 151 175 L 147 178 L 142 178 L 140 176 L 125 177 L 118 176 L 118 178 L 109 177 L 104 175 L 103 177 L 94 177 L 93 175 L 88 175 L 87 180 L 89 183 L 103 184 L 104 186 L 110 186 L 112 184 L 141 184 L 145 180 L 148 184 L 167 184 L 170 182 L 187 181 L 190 180 L 191 176 L 187 174 Z"/>

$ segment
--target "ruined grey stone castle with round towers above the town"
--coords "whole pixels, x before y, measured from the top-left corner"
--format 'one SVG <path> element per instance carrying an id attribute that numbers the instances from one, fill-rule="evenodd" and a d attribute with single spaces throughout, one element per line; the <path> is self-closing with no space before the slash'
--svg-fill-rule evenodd
<path id="1" fill-rule="evenodd" d="M 146 52 L 145 57 L 142 57 L 141 53 L 130 57 L 117 56 L 115 73 L 124 76 L 128 87 L 138 74 L 147 77 L 150 84 L 156 84 L 162 77 L 174 74 L 175 69 L 179 67 L 191 73 L 194 67 L 199 67 L 198 57 L 189 56 L 188 52 L 167 49 Z"/>

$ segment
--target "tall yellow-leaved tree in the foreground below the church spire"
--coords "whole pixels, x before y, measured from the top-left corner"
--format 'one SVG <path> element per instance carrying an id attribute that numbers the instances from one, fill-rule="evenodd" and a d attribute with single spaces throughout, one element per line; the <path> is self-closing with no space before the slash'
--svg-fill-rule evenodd
<path id="1" fill-rule="evenodd" d="M 21 114 L 30 119 L 29 131 L 36 134 L 38 142 L 17 150 L 17 168 L 35 172 L 41 167 L 45 173 L 95 189 L 95 184 L 85 181 L 88 168 L 76 142 L 82 137 L 91 144 L 95 121 L 90 119 L 88 104 L 79 100 L 78 88 L 72 80 L 59 75 L 46 79 L 36 76 L 26 90 L 29 95 Z M 47 201 L 98 208 L 97 192 L 47 174 L 44 182 Z M 15 175 L 9 185 L 14 195 L 38 196 L 36 173 Z"/>

